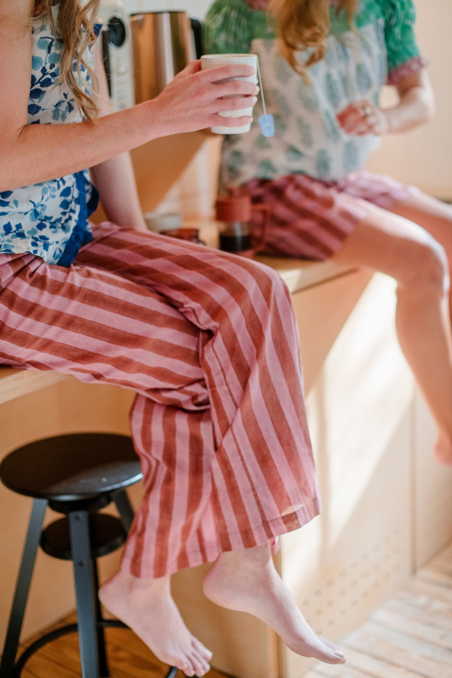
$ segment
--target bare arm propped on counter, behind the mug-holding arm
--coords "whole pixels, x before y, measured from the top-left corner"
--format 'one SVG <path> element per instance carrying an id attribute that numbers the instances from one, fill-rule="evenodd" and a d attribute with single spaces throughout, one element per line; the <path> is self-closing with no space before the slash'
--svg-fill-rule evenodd
<path id="1" fill-rule="evenodd" d="M 106 77 L 98 49 L 96 49 L 94 70 L 99 83 L 100 95 L 96 104 L 99 116 L 103 117 L 111 113 L 112 106 L 108 97 Z M 119 226 L 146 231 L 146 223 L 142 215 L 128 151 L 91 167 L 91 176 L 99 191 L 100 201 L 108 219 L 119 224 Z"/>

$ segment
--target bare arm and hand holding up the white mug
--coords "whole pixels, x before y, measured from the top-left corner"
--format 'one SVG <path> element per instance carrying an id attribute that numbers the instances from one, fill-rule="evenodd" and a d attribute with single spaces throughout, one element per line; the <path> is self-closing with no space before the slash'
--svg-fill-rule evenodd
<path id="1" fill-rule="evenodd" d="M 27 125 L 30 91 L 30 0 L 0 0 L 0 191 L 60 178 L 93 167 L 159 136 L 213 125 L 234 126 L 251 119 L 219 117 L 220 111 L 251 106 L 258 88 L 232 81 L 249 77 L 250 66 L 200 71 L 192 62 L 157 98 L 89 122 Z"/>

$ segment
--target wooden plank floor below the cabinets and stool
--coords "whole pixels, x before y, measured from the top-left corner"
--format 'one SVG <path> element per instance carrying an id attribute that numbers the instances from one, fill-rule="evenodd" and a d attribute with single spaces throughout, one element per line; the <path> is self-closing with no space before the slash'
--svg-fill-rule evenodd
<path id="1" fill-rule="evenodd" d="M 165 676 L 166 667 L 131 631 L 106 635 L 111 678 Z M 347 664 L 317 664 L 305 678 L 452 678 L 452 544 L 341 646 Z M 80 675 L 75 635 L 44 647 L 22 672 L 23 678 Z M 213 670 L 208 675 L 222 678 Z"/>

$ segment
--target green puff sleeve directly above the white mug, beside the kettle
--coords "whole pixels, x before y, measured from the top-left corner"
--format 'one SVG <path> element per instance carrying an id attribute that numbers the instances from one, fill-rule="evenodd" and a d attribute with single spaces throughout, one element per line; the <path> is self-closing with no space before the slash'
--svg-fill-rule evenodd
<path id="1" fill-rule="evenodd" d="M 254 14 L 245 0 L 215 0 L 203 25 L 205 54 L 249 54 Z"/>

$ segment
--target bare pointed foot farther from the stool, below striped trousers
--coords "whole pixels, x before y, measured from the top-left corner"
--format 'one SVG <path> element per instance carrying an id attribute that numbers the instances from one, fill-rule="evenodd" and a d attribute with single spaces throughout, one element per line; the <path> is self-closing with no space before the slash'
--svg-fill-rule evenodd
<path id="1" fill-rule="evenodd" d="M 217 605 L 258 617 L 297 654 L 327 664 L 346 661 L 338 647 L 306 622 L 274 568 L 270 544 L 222 553 L 207 573 L 203 590 Z"/>

